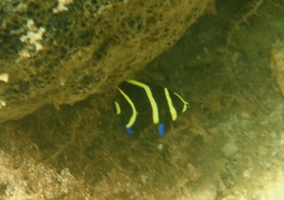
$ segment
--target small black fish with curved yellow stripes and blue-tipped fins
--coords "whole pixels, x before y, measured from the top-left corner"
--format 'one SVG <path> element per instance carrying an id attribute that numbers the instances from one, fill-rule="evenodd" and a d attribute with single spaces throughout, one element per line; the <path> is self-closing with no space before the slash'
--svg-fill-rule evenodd
<path id="1" fill-rule="evenodd" d="M 163 136 L 170 121 L 175 121 L 189 107 L 180 95 L 166 87 L 130 79 L 117 89 L 119 96 L 114 101 L 114 111 L 130 134 L 154 123 Z"/>

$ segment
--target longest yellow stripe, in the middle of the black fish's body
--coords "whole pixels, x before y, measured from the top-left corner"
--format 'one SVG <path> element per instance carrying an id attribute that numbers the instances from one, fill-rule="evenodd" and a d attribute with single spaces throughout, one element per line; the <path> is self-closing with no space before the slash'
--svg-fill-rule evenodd
<path id="1" fill-rule="evenodd" d="M 151 91 L 150 87 L 148 87 L 148 85 L 146 85 L 146 84 L 143 84 L 143 83 L 138 82 L 138 81 L 133 80 L 133 79 L 128 80 L 127 82 L 129 82 L 130 84 L 134 84 L 134 85 L 136 85 L 138 87 L 142 87 L 146 91 L 146 94 L 148 96 L 148 99 L 149 99 L 151 107 L 152 107 L 153 123 L 155 123 L 155 124 L 159 123 L 158 106 L 155 103 L 155 99 L 153 97 L 153 94 L 152 94 L 152 91 Z"/>

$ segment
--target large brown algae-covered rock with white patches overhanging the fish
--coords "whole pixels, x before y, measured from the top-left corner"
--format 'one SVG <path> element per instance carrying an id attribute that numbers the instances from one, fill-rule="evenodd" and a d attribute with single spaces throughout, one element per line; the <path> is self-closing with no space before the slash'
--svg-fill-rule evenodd
<path id="1" fill-rule="evenodd" d="M 0 82 L 0 123 L 113 89 L 212 2 L 1 1 L 0 74 L 9 81 Z"/>

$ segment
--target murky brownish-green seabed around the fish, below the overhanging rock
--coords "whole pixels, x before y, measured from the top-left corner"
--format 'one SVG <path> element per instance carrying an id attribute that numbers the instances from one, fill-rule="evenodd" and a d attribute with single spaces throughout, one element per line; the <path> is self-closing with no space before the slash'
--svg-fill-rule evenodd
<path id="1" fill-rule="evenodd" d="M 270 65 L 283 11 L 217 1 L 216 16 L 136 74 L 190 103 L 163 138 L 153 126 L 127 134 L 107 94 L 4 123 L 1 196 L 13 184 L 30 199 L 281 199 L 284 103 Z"/>

